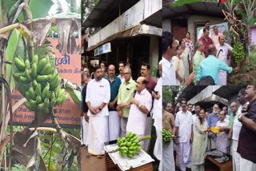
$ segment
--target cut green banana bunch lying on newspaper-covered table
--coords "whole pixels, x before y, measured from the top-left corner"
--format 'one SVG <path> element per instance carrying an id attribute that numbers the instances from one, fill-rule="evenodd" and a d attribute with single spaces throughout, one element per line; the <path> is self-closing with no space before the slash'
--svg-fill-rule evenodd
<path id="1" fill-rule="evenodd" d="M 135 133 L 127 132 L 125 137 L 118 137 L 119 155 L 121 157 L 134 157 L 134 155 L 137 155 L 139 150 L 142 149 L 139 142 L 150 138 L 150 136 L 138 138 Z"/>

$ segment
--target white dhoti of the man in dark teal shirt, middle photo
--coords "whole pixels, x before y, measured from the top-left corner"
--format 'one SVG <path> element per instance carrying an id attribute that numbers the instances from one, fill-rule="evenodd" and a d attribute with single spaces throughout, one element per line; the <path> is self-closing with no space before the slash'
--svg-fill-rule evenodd
<path id="1" fill-rule="evenodd" d="M 109 140 L 116 140 L 120 137 L 120 117 L 117 111 L 110 111 L 109 114 Z"/>

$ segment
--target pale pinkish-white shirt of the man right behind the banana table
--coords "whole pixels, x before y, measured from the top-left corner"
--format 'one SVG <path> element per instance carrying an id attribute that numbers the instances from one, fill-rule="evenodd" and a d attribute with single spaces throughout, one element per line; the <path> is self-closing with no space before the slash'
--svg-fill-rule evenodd
<path id="1" fill-rule="evenodd" d="M 148 90 L 143 89 L 141 93 L 138 91 L 135 93 L 134 97 L 141 105 L 144 105 L 146 109 L 150 111 L 152 106 L 152 96 Z M 138 109 L 137 105 L 132 104 L 130 106 L 130 112 L 128 117 L 128 122 L 126 126 L 126 131 L 132 131 L 137 135 L 144 135 L 146 128 L 146 116 L 147 113 L 142 113 Z"/>

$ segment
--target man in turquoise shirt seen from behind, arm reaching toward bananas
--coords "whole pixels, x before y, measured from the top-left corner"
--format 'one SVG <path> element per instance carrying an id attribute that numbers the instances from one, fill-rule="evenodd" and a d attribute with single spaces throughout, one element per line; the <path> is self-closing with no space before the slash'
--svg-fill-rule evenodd
<path id="1" fill-rule="evenodd" d="M 217 50 L 214 45 L 209 46 L 208 52 L 208 58 L 203 59 L 198 67 L 196 80 L 200 81 L 202 78 L 210 76 L 214 79 L 215 85 L 218 85 L 219 70 L 226 70 L 230 74 L 232 71 L 235 72 L 237 69 L 232 69 L 232 67 L 227 66 L 225 62 L 222 62 L 222 60 L 215 57 Z"/>

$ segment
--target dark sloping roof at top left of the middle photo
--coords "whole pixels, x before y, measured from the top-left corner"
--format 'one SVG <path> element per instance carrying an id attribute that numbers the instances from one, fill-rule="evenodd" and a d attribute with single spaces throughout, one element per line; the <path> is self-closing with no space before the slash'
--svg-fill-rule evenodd
<path id="1" fill-rule="evenodd" d="M 139 0 L 99 0 L 82 25 L 85 27 L 106 26 L 137 2 Z"/>

